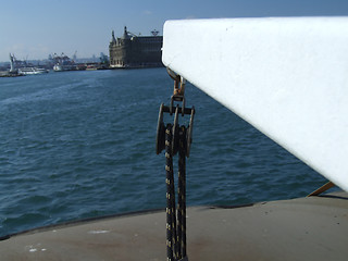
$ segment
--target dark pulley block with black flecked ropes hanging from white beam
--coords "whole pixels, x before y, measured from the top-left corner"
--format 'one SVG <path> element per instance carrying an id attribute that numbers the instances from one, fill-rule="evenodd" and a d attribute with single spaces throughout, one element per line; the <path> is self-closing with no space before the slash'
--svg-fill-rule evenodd
<path id="1" fill-rule="evenodd" d="M 185 108 L 184 88 L 185 79 L 167 70 L 174 79 L 174 91 L 171 97 L 171 105 L 160 107 L 159 122 L 157 128 L 156 152 L 157 154 L 165 150 L 165 184 L 166 184 L 166 256 L 169 261 L 184 261 L 187 259 L 186 247 L 186 158 L 189 157 L 190 145 L 192 142 L 192 126 L 195 108 Z M 181 85 L 181 87 L 178 87 Z M 174 101 L 182 102 L 182 107 L 176 104 L 174 123 L 164 125 L 163 113 L 173 114 Z M 190 115 L 188 126 L 178 124 L 178 115 Z M 177 174 L 177 209 L 175 206 L 175 184 L 173 171 L 173 157 L 178 153 Z"/>

